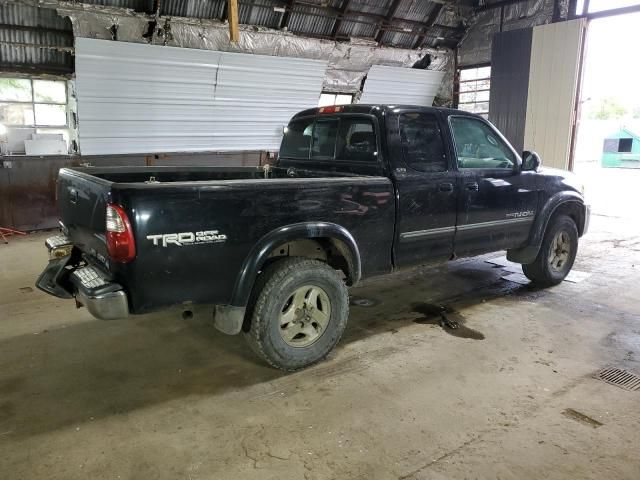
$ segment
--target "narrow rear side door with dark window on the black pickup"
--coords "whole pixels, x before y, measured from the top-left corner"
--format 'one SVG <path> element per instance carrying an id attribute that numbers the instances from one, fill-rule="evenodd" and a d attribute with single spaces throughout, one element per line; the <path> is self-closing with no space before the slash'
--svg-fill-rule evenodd
<path id="1" fill-rule="evenodd" d="M 399 198 L 396 266 L 449 259 L 459 186 L 458 173 L 446 155 L 440 119 L 433 113 L 404 112 L 392 121 L 399 125 L 399 139 L 393 143 L 401 146 L 394 156 Z"/>

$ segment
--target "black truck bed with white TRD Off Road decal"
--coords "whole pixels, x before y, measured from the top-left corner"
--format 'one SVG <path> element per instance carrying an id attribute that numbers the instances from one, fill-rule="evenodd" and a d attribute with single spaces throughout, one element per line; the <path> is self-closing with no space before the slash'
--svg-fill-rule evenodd
<path id="1" fill-rule="evenodd" d="M 327 222 L 348 230 L 362 250 L 363 274 L 391 269 L 395 201 L 386 177 L 291 168 L 128 167 L 62 169 L 61 221 L 73 244 L 110 279 L 137 285 L 133 313 L 172 304 L 225 304 L 260 240 L 284 225 Z M 135 236 L 130 263 L 109 259 L 106 207 L 126 212 Z M 216 232 L 214 243 L 163 245 L 165 235 Z"/>

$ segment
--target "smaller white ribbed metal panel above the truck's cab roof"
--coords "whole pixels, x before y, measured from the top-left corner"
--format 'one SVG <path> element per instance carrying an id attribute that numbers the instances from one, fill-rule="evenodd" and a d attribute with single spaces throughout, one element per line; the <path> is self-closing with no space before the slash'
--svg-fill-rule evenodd
<path id="1" fill-rule="evenodd" d="M 360 103 L 433 105 L 444 72 L 374 65 L 367 74 Z"/>

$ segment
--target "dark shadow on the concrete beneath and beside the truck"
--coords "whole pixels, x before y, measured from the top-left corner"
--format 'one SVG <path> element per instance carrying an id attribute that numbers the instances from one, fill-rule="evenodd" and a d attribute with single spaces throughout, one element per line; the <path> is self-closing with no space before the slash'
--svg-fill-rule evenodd
<path id="1" fill-rule="evenodd" d="M 337 353 L 312 369 L 327 370 L 333 364 L 332 375 L 340 375 L 341 362 L 349 361 L 342 358 L 341 347 L 398 331 L 414 321 L 435 322 L 437 312 L 429 305 L 460 311 L 527 292 L 531 292 L 528 287 L 500 280 L 499 272 L 481 261 L 375 280 L 354 289 L 353 295 L 371 298 L 373 303 L 351 307 L 350 323 Z M 474 335 L 472 338 L 482 334 Z M 184 320 L 176 312 L 113 322 L 87 321 L 13 337 L 0 342 L 0 365 L 4 367 L 0 371 L 0 426 L 9 432 L 0 441 L 190 395 L 206 395 L 216 401 L 225 392 L 254 388 L 255 395 L 250 392 L 249 396 L 260 396 L 277 388 L 271 382 L 286 375 L 262 364 L 242 338 L 217 332 L 208 316 Z"/>

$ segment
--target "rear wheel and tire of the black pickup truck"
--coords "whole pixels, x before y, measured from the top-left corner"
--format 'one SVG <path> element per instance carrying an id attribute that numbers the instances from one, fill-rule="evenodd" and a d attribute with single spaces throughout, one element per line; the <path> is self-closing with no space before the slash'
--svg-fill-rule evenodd
<path id="1" fill-rule="evenodd" d="M 323 316 L 324 327 L 315 327 L 311 317 L 305 316 L 307 295 L 300 297 L 299 292 L 311 288 L 307 295 L 316 292 L 316 305 L 321 306 L 325 299 L 326 312 L 330 312 L 328 320 Z M 317 294 L 319 292 L 319 295 Z M 323 295 L 324 294 L 324 295 Z M 298 295 L 298 297 L 296 297 Z M 322 296 L 321 300 L 318 297 Z M 304 298 L 302 313 L 291 311 L 294 297 Z M 309 297 L 310 298 L 310 297 Z M 328 305 L 326 303 L 328 302 Z M 317 308 L 319 314 L 321 308 Z M 284 313 L 284 312 L 289 313 Z M 302 257 L 290 257 L 278 260 L 269 265 L 258 277 L 249 303 L 248 314 L 250 325 L 245 331 L 245 338 L 251 349 L 269 365 L 285 371 L 294 371 L 316 363 L 327 356 L 340 340 L 347 325 L 349 316 L 349 295 L 344 281 L 336 270 L 326 263 Z M 287 315 L 295 314 L 295 320 L 281 326 L 281 321 Z M 310 314 L 313 315 L 313 312 Z M 287 317 L 289 318 L 289 317 Z M 304 322 L 307 322 L 306 326 Z M 291 334 L 283 333 L 305 327 L 304 331 L 311 331 L 305 339 L 305 334 L 298 333 L 293 338 L 285 337 Z M 319 333 L 321 331 L 321 333 Z M 313 332 L 317 338 L 313 340 Z M 300 335 L 303 335 L 300 337 Z M 298 338 L 299 337 L 299 338 Z M 297 340 L 296 340 L 297 338 Z M 305 342 L 312 341 L 309 345 Z M 292 345 L 300 342 L 302 346 Z"/>

